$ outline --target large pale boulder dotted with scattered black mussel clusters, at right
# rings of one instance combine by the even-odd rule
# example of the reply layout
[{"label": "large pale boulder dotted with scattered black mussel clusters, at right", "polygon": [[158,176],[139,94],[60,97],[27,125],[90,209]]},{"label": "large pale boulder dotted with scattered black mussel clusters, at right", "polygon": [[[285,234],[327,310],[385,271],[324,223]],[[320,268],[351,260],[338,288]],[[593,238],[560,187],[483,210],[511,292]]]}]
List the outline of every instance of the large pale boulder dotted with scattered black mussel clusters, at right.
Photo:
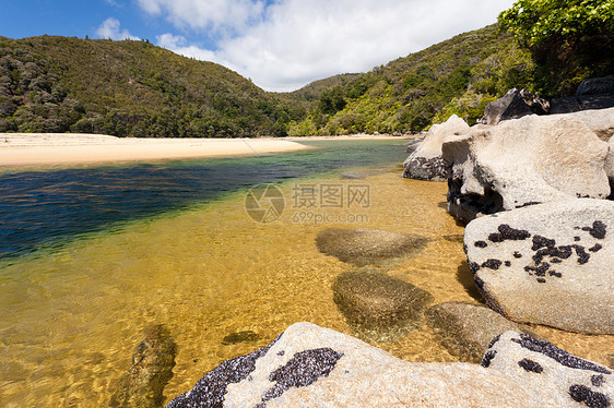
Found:
[{"label": "large pale boulder dotted with scattered black mussel clusters, at right", "polygon": [[482,217],[465,228],[484,300],[516,322],[614,334],[614,203],[568,200]]}]

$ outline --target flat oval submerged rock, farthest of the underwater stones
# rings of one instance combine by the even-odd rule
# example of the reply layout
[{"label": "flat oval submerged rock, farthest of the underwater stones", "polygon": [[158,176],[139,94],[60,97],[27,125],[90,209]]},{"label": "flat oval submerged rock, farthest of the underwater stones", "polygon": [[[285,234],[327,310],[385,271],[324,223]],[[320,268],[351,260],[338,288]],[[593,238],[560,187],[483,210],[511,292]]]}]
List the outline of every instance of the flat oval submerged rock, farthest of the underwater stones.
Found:
[{"label": "flat oval submerged rock, farthest of the underwater stones", "polygon": [[428,239],[411,233],[379,229],[329,228],[320,231],[320,252],[357,266],[383,265],[422,251]]}]

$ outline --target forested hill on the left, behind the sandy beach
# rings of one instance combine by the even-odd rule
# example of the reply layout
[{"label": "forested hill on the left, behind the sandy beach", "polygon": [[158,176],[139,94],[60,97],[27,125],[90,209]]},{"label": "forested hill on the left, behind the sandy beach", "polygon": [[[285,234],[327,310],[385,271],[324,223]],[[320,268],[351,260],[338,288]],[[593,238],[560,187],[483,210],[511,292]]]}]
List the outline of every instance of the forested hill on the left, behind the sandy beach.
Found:
[{"label": "forested hill on the left, behind the sandy beach", "polygon": [[0,37],[0,132],[285,135],[303,116],[236,72],[146,41]]}]

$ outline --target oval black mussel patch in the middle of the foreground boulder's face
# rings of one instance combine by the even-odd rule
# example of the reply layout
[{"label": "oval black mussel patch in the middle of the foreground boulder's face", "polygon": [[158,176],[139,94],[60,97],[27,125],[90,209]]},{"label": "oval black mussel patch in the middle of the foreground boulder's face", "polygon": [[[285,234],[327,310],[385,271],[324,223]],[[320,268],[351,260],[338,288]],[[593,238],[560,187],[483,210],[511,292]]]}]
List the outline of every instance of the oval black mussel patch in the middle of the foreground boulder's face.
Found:
[{"label": "oval black mussel patch in the middle of the foreground boulder's face", "polygon": [[285,365],[271,373],[269,381],[275,382],[275,385],[264,393],[262,403],[256,407],[264,408],[267,401],[280,397],[290,388],[306,387],[328,376],[342,357],[343,352],[328,347],[297,352]]}]

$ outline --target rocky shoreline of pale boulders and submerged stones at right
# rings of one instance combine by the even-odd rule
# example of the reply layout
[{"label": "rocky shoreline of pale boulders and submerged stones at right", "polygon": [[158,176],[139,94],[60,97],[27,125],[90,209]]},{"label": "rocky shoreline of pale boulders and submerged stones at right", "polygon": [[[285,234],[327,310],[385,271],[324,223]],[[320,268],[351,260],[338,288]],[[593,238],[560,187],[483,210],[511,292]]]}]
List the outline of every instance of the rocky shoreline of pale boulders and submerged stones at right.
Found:
[{"label": "rocky shoreline of pale boulders and submerged stones at right", "polygon": [[433,127],[404,164],[405,177],[448,182],[448,211],[468,224],[464,250],[487,307],[433,305],[430,293],[386,274],[424,248],[421,237],[329,229],[316,242],[356,267],[333,285],[355,336],[390,340],[426,323],[465,362],[408,362],[296,323],[167,407],[611,407],[610,368],[524,323],[614,334],[614,108],[536,116],[543,103],[519,94],[532,105],[513,118],[505,110],[515,95],[487,109],[495,124],[452,117]]}]

